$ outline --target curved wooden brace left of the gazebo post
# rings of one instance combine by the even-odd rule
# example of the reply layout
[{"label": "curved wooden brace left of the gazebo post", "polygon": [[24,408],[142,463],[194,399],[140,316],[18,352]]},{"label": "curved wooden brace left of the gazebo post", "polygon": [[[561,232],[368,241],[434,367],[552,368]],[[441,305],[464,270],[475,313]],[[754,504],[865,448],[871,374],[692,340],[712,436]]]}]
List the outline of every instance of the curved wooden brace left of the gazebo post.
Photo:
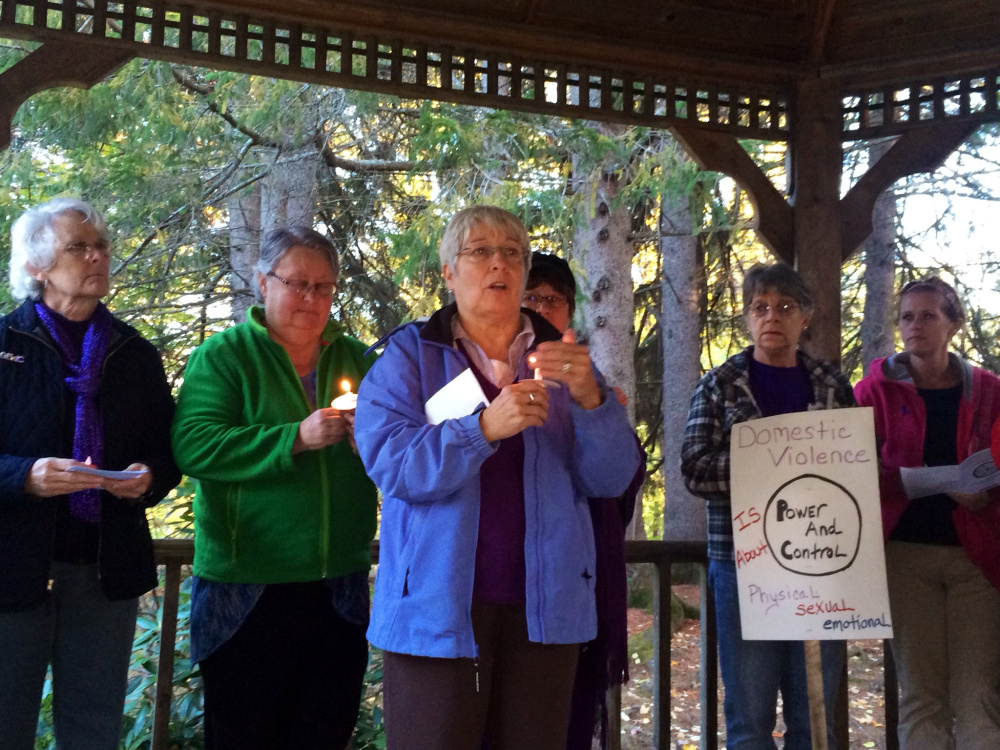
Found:
[{"label": "curved wooden brace left of the gazebo post", "polygon": [[699,168],[722,172],[740,184],[754,207],[757,236],[776,256],[794,263],[792,207],[740,142],[726,133],[691,125],[675,125],[670,130]]}]

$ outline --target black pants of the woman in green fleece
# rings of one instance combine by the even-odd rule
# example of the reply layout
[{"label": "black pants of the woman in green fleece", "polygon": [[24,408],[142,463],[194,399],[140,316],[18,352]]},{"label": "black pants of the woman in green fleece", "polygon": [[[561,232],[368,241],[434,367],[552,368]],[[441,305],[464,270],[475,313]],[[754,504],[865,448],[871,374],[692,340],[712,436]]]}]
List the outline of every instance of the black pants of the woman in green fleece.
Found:
[{"label": "black pants of the woman in green fleece", "polygon": [[209,750],[342,750],[368,662],[364,628],[333,609],[322,581],[273,584],[201,662]]}]

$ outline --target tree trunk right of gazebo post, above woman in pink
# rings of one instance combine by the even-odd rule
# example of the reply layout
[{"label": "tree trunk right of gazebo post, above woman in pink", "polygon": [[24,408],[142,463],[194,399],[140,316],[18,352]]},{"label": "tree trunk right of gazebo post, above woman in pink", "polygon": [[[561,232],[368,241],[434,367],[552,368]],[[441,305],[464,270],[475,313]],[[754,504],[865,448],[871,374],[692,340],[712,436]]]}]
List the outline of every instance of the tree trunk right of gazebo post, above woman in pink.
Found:
[{"label": "tree trunk right of gazebo post, above woman in pink", "polygon": [[[869,168],[892,147],[891,140],[868,148]],[[861,367],[878,357],[888,357],[895,349],[893,340],[893,289],[895,287],[896,194],[892,188],[875,201],[872,233],[865,240],[865,312],[861,319]]]}]

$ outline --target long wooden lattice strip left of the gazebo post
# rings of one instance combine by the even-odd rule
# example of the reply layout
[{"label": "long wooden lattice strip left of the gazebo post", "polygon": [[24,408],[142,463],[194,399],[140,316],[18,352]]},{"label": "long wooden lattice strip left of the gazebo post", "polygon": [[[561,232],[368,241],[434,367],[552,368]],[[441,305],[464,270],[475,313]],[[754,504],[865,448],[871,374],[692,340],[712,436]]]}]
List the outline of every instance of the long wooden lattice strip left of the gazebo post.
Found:
[{"label": "long wooden lattice strip left of the gazebo post", "polygon": [[696,123],[740,138],[784,140],[777,87],[667,78],[624,67],[519,59],[350,28],[288,23],[177,0],[2,0],[0,35],[71,39],[163,59],[290,80],[560,117],[669,127]]}]

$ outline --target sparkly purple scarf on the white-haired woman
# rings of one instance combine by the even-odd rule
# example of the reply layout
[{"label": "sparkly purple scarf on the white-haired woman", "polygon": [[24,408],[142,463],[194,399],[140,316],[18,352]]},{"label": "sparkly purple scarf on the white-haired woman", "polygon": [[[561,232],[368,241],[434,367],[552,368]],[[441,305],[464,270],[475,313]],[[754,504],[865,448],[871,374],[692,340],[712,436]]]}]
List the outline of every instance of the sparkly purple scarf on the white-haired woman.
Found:
[{"label": "sparkly purple scarf on the white-haired woman", "polygon": [[[101,466],[104,460],[104,439],[101,414],[97,408],[97,393],[101,383],[101,366],[108,350],[111,334],[111,313],[101,303],[90,316],[90,325],[83,337],[83,349],[76,351],[72,338],[62,327],[57,315],[36,302],[35,312],[45,324],[52,340],[59,347],[66,375],[66,387],[76,394],[76,423],[73,428],[73,458]],[[82,490],[69,496],[70,513],[87,523],[101,520],[101,491]]]}]

